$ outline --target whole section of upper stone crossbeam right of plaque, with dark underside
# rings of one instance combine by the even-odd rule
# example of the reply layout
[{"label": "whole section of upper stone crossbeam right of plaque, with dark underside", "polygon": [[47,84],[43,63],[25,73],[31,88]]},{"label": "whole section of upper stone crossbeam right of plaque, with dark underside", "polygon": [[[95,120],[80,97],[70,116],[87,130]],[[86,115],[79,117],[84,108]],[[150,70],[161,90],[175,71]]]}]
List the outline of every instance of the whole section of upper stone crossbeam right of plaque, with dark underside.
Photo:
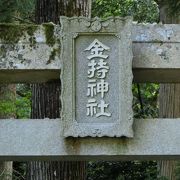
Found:
[{"label": "whole section of upper stone crossbeam right of plaque, with dark underside", "polygon": [[180,25],[134,24],[135,82],[180,82]]}]

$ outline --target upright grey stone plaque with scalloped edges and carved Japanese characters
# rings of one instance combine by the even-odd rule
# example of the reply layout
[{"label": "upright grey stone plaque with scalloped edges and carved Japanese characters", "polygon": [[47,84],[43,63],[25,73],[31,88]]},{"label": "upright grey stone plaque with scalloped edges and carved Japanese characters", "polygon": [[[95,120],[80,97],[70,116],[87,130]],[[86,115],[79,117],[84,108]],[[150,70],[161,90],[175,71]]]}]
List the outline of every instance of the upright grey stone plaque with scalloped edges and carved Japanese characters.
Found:
[{"label": "upright grey stone plaque with scalloped edges and carved Japanese characters", "polygon": [[133,137],[131,18],[61,17],[65,137]]}]

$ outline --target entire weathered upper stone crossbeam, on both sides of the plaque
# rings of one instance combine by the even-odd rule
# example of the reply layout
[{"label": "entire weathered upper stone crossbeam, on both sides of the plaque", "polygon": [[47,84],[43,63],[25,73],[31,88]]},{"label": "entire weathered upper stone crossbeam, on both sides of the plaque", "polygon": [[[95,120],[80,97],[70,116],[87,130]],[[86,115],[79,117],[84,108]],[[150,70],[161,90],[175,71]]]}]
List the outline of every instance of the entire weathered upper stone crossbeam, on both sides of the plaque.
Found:
[{"label": "entire weathered upper stone crossbeam, on both sides of the plaque", "polygon": [[[53,24],[1,24],[0,83],[59,79],[59,32]],[[180,82],[180,25],[134,23],[132,39],[134,82]]]}]

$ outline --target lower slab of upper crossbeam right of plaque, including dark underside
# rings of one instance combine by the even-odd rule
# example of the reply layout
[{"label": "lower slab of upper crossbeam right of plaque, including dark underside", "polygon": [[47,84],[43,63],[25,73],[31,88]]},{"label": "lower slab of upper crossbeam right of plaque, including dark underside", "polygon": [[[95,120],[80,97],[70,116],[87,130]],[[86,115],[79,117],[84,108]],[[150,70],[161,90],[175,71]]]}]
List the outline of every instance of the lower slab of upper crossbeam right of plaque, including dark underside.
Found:
[{"label": "lower slab of upper crossbeam right of plaque, including dark underside", "polygon": [[180,82],[180,43],[133,43],[134,82]]}]

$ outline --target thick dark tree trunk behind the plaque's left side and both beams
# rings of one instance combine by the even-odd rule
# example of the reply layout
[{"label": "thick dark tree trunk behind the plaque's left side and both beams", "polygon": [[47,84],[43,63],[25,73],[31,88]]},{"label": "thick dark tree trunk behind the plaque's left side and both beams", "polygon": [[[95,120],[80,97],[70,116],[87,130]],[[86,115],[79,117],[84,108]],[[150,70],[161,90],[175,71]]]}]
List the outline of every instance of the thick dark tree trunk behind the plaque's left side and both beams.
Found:
[{"label": "thick dark tree trunk behind the plaque's left side and both beams", "polygon": [[[58,23],[59,16],[88,16],[90,0],[37,0],[37,23]],[[60,80],[32,87],[32,118],[60,117]],[[27,180],[84,180],[86,162],[29,162]]]}]

